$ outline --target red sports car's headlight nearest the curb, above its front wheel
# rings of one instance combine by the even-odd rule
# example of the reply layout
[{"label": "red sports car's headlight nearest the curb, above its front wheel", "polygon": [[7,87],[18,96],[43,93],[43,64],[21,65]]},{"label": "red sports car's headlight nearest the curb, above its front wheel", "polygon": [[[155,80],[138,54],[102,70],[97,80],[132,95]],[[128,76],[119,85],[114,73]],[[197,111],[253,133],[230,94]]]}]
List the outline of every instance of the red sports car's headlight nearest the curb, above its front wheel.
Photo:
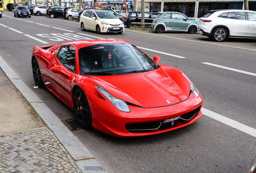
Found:
[{"label": "red sports car's headlight nearest the curb, above its front wheel", "polygon": [[99,92],[101,92],[101,94],[103,94],[107,98],[107,100],[109,100],[110,103],[112,103],[117,109],[119,109],[120,111],[123,111],[123,112],[130,112],[130,109],[126,105],[125,101],[122,101],[122,100],[112,96],[101,86],[94,86],[94,87],[97,88],[97,90],[99,90]]}]

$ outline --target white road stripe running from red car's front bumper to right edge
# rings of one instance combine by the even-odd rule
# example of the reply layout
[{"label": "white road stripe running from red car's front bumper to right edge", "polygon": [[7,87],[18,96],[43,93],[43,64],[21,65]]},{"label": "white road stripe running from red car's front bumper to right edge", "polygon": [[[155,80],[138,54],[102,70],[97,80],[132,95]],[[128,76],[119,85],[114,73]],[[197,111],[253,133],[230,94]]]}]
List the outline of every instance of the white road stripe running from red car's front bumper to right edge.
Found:
[{"label": "white road stripe running from red car's front bumper to right edge", "polygon": [[256,129],[253,129],[252,127],[249,127],[247,125],[244,125],[242,123],[239,123],[237,121],[234,121],[232,119],[229,119],[227,117],[224,117],[222,115],[219,115],[213,111],[209,111],[208,109],[201,108],[202,114],[206,115],[207,117],[210,117],[212,119],[215,119],[221,123],[224,123],[225,125],[228,125],[230,127],[233,127],[239,131],[242,131],[244,133],[247,133],[248,135],[252,135],[253,137],[256,137]]}]

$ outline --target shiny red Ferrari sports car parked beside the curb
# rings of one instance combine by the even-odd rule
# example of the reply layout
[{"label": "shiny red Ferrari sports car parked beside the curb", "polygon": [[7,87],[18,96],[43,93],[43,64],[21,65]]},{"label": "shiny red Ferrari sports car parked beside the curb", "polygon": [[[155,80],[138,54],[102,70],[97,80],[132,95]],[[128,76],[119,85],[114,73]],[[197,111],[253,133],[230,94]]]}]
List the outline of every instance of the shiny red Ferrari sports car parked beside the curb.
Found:
[{"label": "shiny red Ferrari sports car parked beside the curb", "polygon": [[190,125],[202,96],[177,68],[159,65],[117,39],[35,46],[35,84],[71,109],[81,127],[115,137],[155,135]]}]

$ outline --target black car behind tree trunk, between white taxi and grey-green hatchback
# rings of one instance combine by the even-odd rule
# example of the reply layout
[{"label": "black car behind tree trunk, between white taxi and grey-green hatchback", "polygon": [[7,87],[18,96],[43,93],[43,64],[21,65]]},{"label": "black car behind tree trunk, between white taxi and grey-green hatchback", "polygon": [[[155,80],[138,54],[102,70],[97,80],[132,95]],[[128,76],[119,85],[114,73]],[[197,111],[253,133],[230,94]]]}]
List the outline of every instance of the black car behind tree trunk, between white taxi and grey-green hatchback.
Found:
[{"label": "black car behind tree trunk, between white taxi and grey-green hatchback", "polygon": [[[150,12],[145,12],[145,23],[152,23],[155,17]],[[132,22],[140,22],[141,21],[141,12],[128,12],[126,18],[124,20],[124,24],[130,28],[132,26]]]}]

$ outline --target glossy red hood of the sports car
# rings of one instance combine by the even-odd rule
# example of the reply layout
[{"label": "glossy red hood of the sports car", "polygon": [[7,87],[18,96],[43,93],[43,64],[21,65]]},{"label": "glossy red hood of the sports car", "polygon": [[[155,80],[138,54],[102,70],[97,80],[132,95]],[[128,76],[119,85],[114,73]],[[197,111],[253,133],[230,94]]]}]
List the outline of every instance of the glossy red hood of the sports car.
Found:
[{"label": "glossy red hood of the sports car", "polygon": [[175,68],[115,76],[90,76],[114,97],[140,107],[174,105],[188,99],[190,83]]}]

